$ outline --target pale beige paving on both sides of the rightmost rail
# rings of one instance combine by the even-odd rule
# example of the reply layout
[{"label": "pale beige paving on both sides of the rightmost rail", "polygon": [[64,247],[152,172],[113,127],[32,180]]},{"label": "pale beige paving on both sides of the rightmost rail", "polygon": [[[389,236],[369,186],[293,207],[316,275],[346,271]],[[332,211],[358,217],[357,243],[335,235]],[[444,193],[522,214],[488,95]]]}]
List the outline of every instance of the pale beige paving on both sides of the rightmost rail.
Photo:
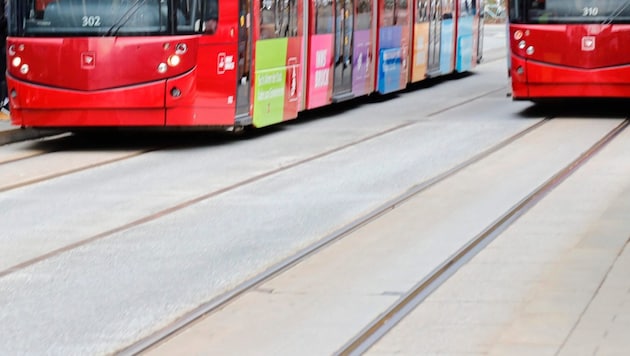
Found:
[{"label": "pale beige paving on both sides of the rightmost rail", "polygon": [[[551,177],[559,162],[568,164],[617,123],[553,121],[149,354],[334,354],[388,303]],[[624,278],[630,267],[624,251],[630,166],[619,162],[630,149],[628,138],[625,133],[588,162],[369,353],[624,354],[630,349],[624,339],[630,335],[630,281]]]}]

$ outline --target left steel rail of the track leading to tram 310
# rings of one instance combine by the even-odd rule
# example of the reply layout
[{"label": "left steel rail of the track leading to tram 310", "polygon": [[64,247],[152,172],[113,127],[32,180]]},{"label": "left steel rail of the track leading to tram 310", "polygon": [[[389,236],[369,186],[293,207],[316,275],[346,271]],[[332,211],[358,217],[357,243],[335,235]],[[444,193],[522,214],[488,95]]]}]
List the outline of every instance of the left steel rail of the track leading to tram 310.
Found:
[{"label": "left steel rail of the track leading to tram 310", "polygon": [[295,266],[296,264],[300,263],[301,261],[309,258],[310,256],[315,255],[316,253],[318,253],[319,251],[323,250],[324,248],[326,248],[327,246],[330,246],[331,244],[343,239],[346,236],[349,236],[352,232],[360,229],[361,227],[377,220],[378,218],[380,218],[381,216],[383,216],[384,214],[387,214],[389,211],[395,209],[396,207],[398,207],[399,205],[405,203],[407,200],[412,199],[413,197],[417,196],[418,194],[422,193],[423,191],[426,191],[427,189],[437,185],[440,182],[443,182],[444,180],[448,179],[449,177],[454,176],[455,174],[457,174],[458,172],[461,172],[462,170],[466,169],[467,167],[470,167],[471,165],[483,160],[484,158],[488,157],[489,155],[505,148],[506,146],[512,144],[513,142],[519,140],[520,138],[522,138],[523,136],[533,132],[534,130],[540,128],[541,126],[545,125],[547,122],[549,121],[549,119],[542,119],[538,122],[536,122],[535,124],[527,127],[526,129],[508,137],[507,139],[499,142],[498,144],[490,147],[489,149],[480,152],[478,154],[476,154],[475,156],[469,158],[468,160],[458,164],[457,166],[431,178],[428,179],[422,183],[419,183],[417,185],[412,186],[411,188],[409,188],[405,193],[393,198],[392,200],[378,206],[377,208],[375,208],[374,210],[370,211],[369,213],[357,218],[356,220],[348,223],[347,225],[343,226],[342,228],[333,231],[332,233],[326,235],[325,237],[323,237],[322,239],[320,239],[318,242],[302,249],[301,251],[298,251],[297,253],[293,254],[290,257],[285,258],[284,260],[278,262],[277,264],[275,264],[274,266],[272,266],[271,268],[267,269],[266,271],[264,271],[263,273],[257,275],[256,277],[247,280],[243,283],[241,283],[240,285],[238,285],[237,287],[233,288],[232,290],[200,305],[199,307],[195,308],[194,310],[190,311],[189,313],[183,315],[182,317],[180,317],[178,320],[176,320],[175,322],[173,322],[172,324],[170,324],[169,326],[159,330],[156,333],[153,333],[151,335],[149,335],[148,337],[145,337],[139,341],[137,341],[136,343],[121,349],[117,352],[117,354],[120,355],[135,355],[138,353],[142,353],[144,351],[150,350],[152,349],[154,346],[159,345],[160,343],[164,342],[165,340],[168,340],[169,338],[171,338],[174,335],[177,335],[181,330],[187,328],[188,326],[194,324],[196,321],[198,321],[199,319],[203,318],[204,316],[213,313],[216,310],[220,310],[222,308],[224,308],[226,305],[230,304],[232,301],[235,301],[236,299],[238,299],[239,296],[252,291],[254,289],[256,289],[257,287],[259,287],[260,285],[262,285],[263,283],[265,283],[266,281],[271,280],[272,278],[274,278],[275,276],[289,270],[290,268],[292,268],[293,266]]}]

